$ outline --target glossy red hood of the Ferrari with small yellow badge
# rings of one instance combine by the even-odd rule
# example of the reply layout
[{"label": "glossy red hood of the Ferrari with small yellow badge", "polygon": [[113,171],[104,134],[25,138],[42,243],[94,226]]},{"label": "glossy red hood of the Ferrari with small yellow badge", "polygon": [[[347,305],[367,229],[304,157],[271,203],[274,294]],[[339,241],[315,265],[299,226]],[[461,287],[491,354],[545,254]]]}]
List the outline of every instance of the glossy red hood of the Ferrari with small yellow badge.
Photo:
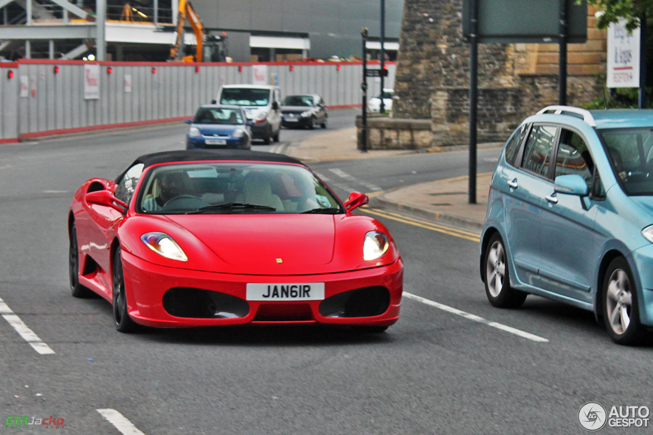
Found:
[{"label": "glossy red hood of the Ferrari with small yellow badge", "polygon": [[168,215],[226,263],[238,266],[315,266],[333,259],[333,215]]}]

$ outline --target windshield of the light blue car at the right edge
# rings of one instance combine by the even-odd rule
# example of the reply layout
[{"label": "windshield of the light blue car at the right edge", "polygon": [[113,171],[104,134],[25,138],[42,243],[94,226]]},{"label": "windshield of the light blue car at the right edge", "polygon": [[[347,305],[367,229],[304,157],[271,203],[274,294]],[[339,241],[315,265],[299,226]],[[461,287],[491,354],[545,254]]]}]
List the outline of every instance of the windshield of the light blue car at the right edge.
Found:
[{"label": "windshield of the light blue car at the right edge", "polygon": [[599,131],[626,195],[653,195],[653,129]]}]

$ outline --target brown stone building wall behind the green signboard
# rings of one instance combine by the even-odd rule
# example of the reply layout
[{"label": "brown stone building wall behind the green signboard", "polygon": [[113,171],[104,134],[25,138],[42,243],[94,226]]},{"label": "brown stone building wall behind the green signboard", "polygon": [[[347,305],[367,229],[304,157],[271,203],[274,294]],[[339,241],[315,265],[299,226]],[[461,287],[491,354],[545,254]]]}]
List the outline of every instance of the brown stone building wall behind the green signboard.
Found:
[{"label": "brown stone building wall behind the green signboard", "polygon": [[[470,54],[461,20],[460,0],[404,3],[391,116],[430,120],[430,146],[469,140]],[[588,26],[593,25],[592,16]],[[589,30],[586,44],[569,44],[569,105],[600,97],[605,86],[597,75],[605,71],[605,35]],[[558,103],[558,75],[551,71],[557,48],[557,44],[479,45],[479,142],[501,142],[524,118]]]}]

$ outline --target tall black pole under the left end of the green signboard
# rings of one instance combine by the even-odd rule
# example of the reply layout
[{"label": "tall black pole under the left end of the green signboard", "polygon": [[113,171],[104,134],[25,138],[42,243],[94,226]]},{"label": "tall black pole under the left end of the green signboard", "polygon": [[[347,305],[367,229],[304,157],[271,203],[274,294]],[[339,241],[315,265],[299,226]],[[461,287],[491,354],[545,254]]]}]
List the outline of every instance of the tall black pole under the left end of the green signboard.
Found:
[{"label": "tall black pole under the left end of the green signboard", "polygon": [[479,86],[479,4],[471,0],[470,31],[470,204],[476,204],[476,112]]}]

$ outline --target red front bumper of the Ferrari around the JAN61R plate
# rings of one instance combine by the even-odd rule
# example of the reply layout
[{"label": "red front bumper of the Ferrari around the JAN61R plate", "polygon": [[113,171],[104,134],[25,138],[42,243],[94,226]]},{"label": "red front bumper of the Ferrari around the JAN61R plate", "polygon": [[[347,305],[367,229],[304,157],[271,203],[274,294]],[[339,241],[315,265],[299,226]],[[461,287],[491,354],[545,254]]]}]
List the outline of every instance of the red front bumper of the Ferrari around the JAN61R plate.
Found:
[{"label": "red front bumper of the Ferrari around the JAN61R plate", "polygon": [[[401,260],[392,265],[364,270],[302,276],[238,275],[170,268],[154,265],[126,251],[122,252],[122,260],[129,315],[136,323],[150,327],[200,327],[245,323],[389,326],[399,319],[404,282]],[[324,300],[246,300],[247,283],[310,282],[324,283]],[[361,297],[372,294],[370,292],[388,295],[387,300],[381,302],[385,305],[380,314],[354,317],[357,315],[355,313],[360,313],[358,306],[351,310],[353,315],[342,317],[342,314],[336,314],[338,310],[333,309],[334,304],[342,302],[347,295],[355,295],[349,298],[350,301],[357,299],[360,302]],[[185,300],[181,310],[171,310],[171,299],[174,302],[184,293],[187,293],[191,300]],[[379,305],[378,300],[370,300],[370,303]],[[195,309],[189,311],[188,305],[198,304],[210,305],[209,311],[215,312],[214,317],[181,317]],[[199,310],[206,312],[206,306],[200,307]],[[170,311],[178,315],[172,315]]]}]

